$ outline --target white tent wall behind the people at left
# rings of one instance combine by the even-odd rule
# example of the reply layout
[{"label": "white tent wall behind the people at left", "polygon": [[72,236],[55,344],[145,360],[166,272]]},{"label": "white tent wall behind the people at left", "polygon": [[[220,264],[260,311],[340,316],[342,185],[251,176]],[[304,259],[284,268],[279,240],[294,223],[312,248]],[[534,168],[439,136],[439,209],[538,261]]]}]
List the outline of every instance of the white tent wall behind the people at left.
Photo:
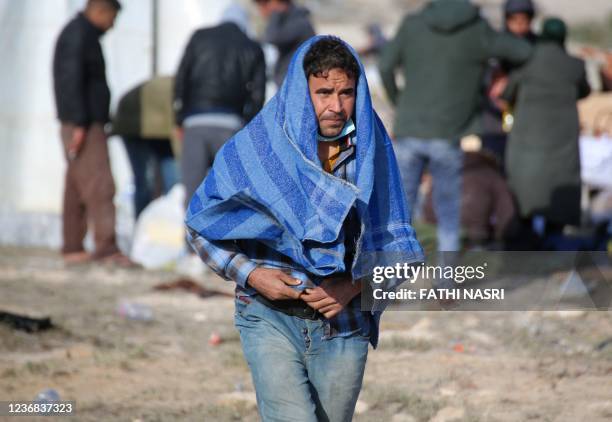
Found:
[{"label": "white tent wall behind the people at left", "polygon": [[[113,104],[152,75],[154,2],[123,0],[103,38]],[[158,73],[170,75],[193,30],[217,22],[230,0],[157,2]],[[60,245],[65,163],[51,63],[57,35],[84,3],[0,0],[0,244]],[[110,147],[121,202],[131,176],[121,143],[111,140]]]}]

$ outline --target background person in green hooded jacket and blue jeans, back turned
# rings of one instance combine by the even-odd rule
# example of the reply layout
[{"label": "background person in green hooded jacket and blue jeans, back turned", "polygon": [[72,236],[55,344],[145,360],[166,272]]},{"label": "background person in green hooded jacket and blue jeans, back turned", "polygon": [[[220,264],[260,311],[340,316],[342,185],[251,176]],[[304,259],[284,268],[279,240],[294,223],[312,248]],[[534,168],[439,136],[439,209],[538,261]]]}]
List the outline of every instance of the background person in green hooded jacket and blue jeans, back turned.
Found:
[{"label": "background person in green hooded jacket and blue jeans, back turned", "polygon": [[[408,15],[380,61],[383,84],[397,106],[395,152],[408,203],[416,202],[425,166],[433,176],[440,251],[459,249],[462,152],[481,83],[492,57],[522,63],[531,47],[494,31],[467,0],[436,0]],[[401,67],[404,89],[395,80]]]}]

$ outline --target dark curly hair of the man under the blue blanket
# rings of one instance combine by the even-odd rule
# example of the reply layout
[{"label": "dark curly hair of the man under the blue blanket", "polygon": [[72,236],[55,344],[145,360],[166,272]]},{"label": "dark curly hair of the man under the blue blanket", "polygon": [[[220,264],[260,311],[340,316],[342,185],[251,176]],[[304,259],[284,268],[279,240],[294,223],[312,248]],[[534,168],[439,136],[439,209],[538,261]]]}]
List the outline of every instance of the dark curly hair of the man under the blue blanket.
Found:
[{"label": "dark curly hair of the man under the blue blanket", "polygon": [[306,78],[321,76],[332,69],[342,69],[351,78],[359,78],[359,63],[337,37],[325,37],[310,47],[304,57]]}]

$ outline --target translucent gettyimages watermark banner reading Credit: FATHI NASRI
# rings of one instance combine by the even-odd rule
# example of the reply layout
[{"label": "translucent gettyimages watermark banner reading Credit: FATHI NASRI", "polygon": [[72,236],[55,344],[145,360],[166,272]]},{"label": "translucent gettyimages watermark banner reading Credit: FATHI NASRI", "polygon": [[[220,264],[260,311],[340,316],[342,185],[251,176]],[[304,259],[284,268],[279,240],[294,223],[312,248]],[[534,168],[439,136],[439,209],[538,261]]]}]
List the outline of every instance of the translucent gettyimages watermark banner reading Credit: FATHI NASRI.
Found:
[{"label": "translucent gettyimages watermark banner reading Credit: FATHI NASRI", "polygon": [[[426,262],[376,253],[361,283],[362,310],[612,310],[612,254],[605,251],[444,252]],[[439,305],[439,306],[438,306]]]}]

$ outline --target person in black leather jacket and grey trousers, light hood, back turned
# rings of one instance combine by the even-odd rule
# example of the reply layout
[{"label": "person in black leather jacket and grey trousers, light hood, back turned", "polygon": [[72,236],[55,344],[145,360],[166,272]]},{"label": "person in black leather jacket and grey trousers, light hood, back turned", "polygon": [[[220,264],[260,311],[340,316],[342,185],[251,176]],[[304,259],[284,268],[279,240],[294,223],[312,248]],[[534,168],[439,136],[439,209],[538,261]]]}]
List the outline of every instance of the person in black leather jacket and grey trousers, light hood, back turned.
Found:
[{"label": "person in black leather jacket and grey trousers, light hood, back turned", "polygon": [[181,59],[174,104],[183,140],[185,206],[204,180],[217,151],[263,106],[264,54],[247,36],[248,26],[247,12],[233,4],[225,10],[220,25],[193,34]]}]

